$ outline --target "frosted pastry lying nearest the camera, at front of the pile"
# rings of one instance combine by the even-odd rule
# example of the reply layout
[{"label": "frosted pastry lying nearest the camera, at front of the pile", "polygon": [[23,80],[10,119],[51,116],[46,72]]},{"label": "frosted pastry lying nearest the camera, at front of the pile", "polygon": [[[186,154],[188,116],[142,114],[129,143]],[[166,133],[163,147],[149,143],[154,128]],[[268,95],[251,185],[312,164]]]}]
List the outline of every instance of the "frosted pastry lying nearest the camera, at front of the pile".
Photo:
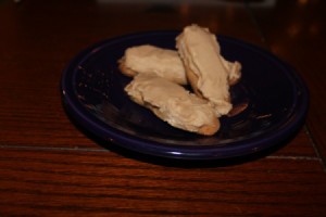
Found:
[{"label": "frosted pastry lying nearest the camera, at front of the pile", "polygon": [[206,100],[165,78],[139,74],[125,91],[133,101],[150,108],[173,127],[206,136],[220,128],[215,111]]}]

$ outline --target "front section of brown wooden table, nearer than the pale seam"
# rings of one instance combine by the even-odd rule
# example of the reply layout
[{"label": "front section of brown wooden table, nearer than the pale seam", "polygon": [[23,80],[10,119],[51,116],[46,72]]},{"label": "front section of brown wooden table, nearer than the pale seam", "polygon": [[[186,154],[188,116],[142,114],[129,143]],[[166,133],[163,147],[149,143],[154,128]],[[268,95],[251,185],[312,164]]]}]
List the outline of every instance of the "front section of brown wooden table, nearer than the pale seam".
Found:
[{"label": "front section of brown wooden table, nearer than the pale seam", "polygon": [[4,214],[317,215],[326,205],[326,177],[314,159],[184,169],[106,151],[3,149],[0,164]]}]

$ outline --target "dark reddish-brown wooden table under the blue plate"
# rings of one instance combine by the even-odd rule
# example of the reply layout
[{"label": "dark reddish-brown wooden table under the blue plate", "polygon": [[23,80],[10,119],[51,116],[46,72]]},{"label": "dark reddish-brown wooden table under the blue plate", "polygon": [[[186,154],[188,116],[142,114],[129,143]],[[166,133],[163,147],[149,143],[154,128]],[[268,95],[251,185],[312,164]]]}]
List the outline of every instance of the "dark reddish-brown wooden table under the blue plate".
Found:
[{"label": "dark reddish-brown wooden table under the blue plate", "polygon": [[[0,1],[0,216],[323,216],[326,2]],[[300,131],[252,161],[205,166],[103,148],[66,116],[63,68],[108,38],[197,23],[269,50],[310,89]]]}]

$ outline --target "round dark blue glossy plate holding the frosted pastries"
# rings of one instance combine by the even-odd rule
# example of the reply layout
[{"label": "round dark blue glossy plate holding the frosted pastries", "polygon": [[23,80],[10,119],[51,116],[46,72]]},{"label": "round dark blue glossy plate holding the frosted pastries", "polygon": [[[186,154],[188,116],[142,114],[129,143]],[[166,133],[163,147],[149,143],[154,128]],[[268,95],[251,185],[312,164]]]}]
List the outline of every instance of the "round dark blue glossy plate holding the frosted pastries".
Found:
[{"label": "round dark blue glossy plate holding the frosted pastries", "polygon": [[231,87],[231,101],[242,111],[221,118],[211,137],[171,127],[124,92],[130,78],[117,60],[133,46],[175,49],[177,31],[123,36],[80,52],[63,72],[61,91],[67,113],[88,131],[115,145],[154,156],[225,159],[277,145],[302,125],[309,94],[296,72],[273,54],[217,36],[222,54],[242,64],[242,78]]}]

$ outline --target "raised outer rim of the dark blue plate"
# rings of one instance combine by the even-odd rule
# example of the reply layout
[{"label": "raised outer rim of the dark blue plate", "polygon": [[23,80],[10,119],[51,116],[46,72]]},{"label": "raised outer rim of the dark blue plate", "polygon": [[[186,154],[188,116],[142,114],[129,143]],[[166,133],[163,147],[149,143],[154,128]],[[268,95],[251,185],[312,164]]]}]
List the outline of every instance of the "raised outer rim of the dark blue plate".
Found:
[{"label": "raised outer rim of the dark blue plate", "polygon": [[[82,125],[92,135],[103,139],[106,142],[112,142],[115,145],[125,148],[127,150],[131,150],[134,152],[142,153],[142,154],[149,154],[149,155],[167,157],[167,158],[179,158],[179,159],[225,159],[225,158],[253,154],[275,145],[275,143],[285,139],[284,138],[285,135],[289,136],[296,132],[298,128],[301,126],[301,124],[303,124],[309,107],[309,90],[303,79],[296,72],[296,69],[291,67],[289,64],[287,64],[286,62],[284,62],[283,60],[280,60],[275,54],[268,52],[267,50],[264,50],[252,43],[244,42],[242,40],[231,38],[229,36],[224,36],[224,35],[216,35],[217,39],[220,38],[223,40],[231,41],[233,43],[237,43],[241,47],[244,46],[246,48],[249,48],[251,51],[263,54],[264,56],[267,56],[268,59],[275,61],[279,65],[285,67],[287,72],[287,76],[290,78],[292,85],[296,86],[297,90],[300,90],[300,93],[298,93],[297,97],[297,104],[296,104],[296,107],[300,107],[300,110],[298,110],[297,112],[292,112],[289,118],[291,119],[291,122],[288,120],[286,125],[281,125],[285,129],[277,131],[277,133],[275,135],[272,136],[269,135],[267,138],[261,138],[261,136],[259,136],[259,139],[256,138],[248,139],[249,144],[247,143],[244,146],[242,145],[243,148],[241,149],[242,150],[241,152],[237,151],[235,153],[235,149],[238,150],[239,146],[237,146],[237,144],[243,142],[236,142],[235,145],[226,144],[223,146],[222,145],[185,146],[185,145],[164,144],[156,141],[147,141],[143,140],[142,138],[137,138],[133,135],[128,135],[124,131],[120,131],[118,129],[115,129],[109,125],[104,125],[100,119],[93,117],[93,115],[91,115],[90,113],[87,113],[87,110],[85,107],[83,107],[82,105],[78,106],[78,100],[74,99],[74,97],[71,95],[72,93],[68,92],[68,89],[73,87],[68,87],[70,84],[67,82],[68,81],[67,76],[68,74],[72,75],[75,74],[72,73],[72,69],[75,68],[76,63],[82,62],[83,56],[84,59],[87,56],[86,55],[87,53],[97,52],[98,50],[101,50],[101,47],[108,47],[112,43],[116,43],[117,41],[128,40],[138,37],[149,37],[152,35],[160,35],[160,36],[177,35],[178,33],[180,31],[159,30],[159,31],[140,31],[136,34],[128,34],[128,35],[117,36],[117,37],[102,40],[78,52],[68,62],[61,77],[60,90],[61,90],[62,101],[68,115],[73,116],[74,120],[76,120],[79,125]],[[74,102],[77,102],[77,104]],[[87,127],[87,125],[91,125],[91,127],[89,126]],[[271,140],[273,142],[271,142]],[[263,142],[266,142],[269,145],[264,145],[263,149],[260,149],[261,148],[260,144]],[[183,151],[180,151],[180,149]],[[201,151],[201,153],[198,153],[199,150]],[[220,152],[221,150],[223,150],[223,154]]]}]

